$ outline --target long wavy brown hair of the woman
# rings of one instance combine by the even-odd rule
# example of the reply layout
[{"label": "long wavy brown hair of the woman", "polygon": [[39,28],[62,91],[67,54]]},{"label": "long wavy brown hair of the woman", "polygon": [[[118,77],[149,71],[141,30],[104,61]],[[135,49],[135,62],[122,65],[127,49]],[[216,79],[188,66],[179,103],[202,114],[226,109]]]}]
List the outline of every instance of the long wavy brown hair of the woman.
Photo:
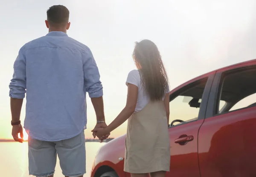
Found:
[{"label": "long wavy brown hair of the woman", "polygon": [[150,100],[162,100],[169,86],[157,46],[151,40],[136,42],[133,58],[137,67],[139,66],[142,83]]}]

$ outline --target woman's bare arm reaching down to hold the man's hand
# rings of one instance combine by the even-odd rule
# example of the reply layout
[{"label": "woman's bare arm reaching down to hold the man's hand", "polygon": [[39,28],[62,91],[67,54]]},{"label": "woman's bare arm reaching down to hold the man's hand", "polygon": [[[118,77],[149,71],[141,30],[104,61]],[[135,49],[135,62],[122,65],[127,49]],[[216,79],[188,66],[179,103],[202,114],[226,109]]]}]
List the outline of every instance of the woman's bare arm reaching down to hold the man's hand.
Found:
[{"label": "woman's bare arm reaching down to hold the man's hand", "polygon": [[137,104],[138,97],[138,87],[128,83],[128,94],[125,108],[120,112],[120,114],[104,129],[93,129],[92,131],[97,131],[97,137],[102,137],[109,134],[111,131],[122,125],[122,123],[127,120],[131,114],[134,113]]}]

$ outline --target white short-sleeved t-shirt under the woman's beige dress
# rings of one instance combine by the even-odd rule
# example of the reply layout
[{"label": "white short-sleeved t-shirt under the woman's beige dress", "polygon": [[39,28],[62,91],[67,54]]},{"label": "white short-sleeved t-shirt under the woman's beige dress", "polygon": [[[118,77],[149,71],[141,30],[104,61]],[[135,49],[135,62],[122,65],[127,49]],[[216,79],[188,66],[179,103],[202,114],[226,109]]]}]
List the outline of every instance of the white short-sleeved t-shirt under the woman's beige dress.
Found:
[{"label": "white short-sleeved t-shirt under the woman's beige dress", "polygon": [[[137,104],[135,108],[135,112],[138,112],[148,104],[150,98],[147,94],[145,94],[143,84],[140,80],[140,73],[137,69],[134,69],[129,72],[126,80],[126,85],[128,85],[128,83],[138,87],[138,98],[137,98]],[[166,93],[169,93],[169,87],[166,90]]]}]

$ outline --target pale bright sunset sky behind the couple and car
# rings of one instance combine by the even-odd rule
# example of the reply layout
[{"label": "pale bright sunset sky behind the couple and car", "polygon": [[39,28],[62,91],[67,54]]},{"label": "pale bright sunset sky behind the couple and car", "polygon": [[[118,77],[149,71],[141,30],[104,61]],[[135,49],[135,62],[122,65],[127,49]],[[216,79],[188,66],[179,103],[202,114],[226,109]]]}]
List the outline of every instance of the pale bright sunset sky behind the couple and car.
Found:
[{"label": "pale bright sunset sky behind the couple and car", "polygon": [[[46,11],[58,4],[70,10],[67,34],[93,52],[108,124],[125,106],[125,80],[136,69],[131,57],[136,41],[156,43],[171,89],[198,75],[256,58],[255,0],[0,1],[0,139],[12,138],[9,83],[17,53],[25,43],[47,34]],[[96,117],[88,97],[87,105],[85,136],[92,138]],[[125,134],[126,126],[111,137]]]}]

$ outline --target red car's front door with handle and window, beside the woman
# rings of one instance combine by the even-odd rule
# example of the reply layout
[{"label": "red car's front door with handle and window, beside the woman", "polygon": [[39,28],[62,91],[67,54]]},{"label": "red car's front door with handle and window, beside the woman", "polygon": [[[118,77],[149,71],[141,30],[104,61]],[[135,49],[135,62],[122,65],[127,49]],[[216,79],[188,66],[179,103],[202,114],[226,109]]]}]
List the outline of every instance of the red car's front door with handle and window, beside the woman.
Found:
[{"label": "red car's front door with handle and window, beside the woman", "polygon": [[204,121],[214,74],[189,81],[170,94],[171,164],[167,177],[200,177],[198,130]]}]

